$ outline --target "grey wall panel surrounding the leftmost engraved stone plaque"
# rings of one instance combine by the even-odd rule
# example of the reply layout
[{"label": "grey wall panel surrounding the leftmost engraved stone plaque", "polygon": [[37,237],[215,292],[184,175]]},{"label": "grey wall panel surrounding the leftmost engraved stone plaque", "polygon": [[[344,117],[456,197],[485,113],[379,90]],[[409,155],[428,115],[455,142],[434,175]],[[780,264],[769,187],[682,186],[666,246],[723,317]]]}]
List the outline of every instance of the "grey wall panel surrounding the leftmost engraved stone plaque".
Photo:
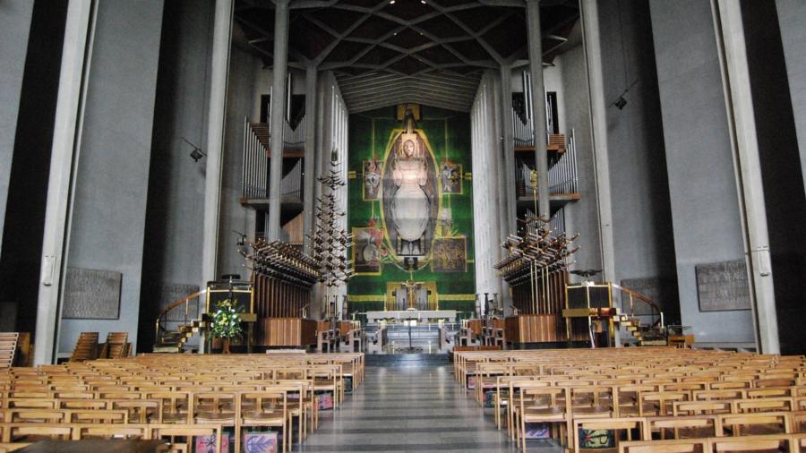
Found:
[{"label": "grey wall panel surrounding the leftmost engraved stone plaque", "polygon": [[129,332],[136,344],[162,6],[98,5],[67,265],[123,273],[120,319],[63,320],[60,352],[81,331]]}]

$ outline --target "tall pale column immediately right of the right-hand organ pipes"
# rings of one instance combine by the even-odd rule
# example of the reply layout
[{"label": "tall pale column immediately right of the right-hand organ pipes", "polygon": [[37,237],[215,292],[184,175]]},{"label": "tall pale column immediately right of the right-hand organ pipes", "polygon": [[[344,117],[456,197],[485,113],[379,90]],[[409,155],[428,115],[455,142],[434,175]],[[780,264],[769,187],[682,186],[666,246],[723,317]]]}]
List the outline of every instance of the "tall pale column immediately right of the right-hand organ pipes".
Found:
[{"label": "tall pale column immediately right of the right-hand organ pipes", "polygon": [[[596,0],[582,0],[582,36],[587,62],[587,87],[590,102],[590,124],[596,173],[596,206],[599,210],[599,237],[602,244],[602,268],[605,281],[613,281],[613,209],[610,196],[610,164],[607,154],[607,115],[602,74],[602,47]],[[585,152],[586,150],[582,150]]]}]

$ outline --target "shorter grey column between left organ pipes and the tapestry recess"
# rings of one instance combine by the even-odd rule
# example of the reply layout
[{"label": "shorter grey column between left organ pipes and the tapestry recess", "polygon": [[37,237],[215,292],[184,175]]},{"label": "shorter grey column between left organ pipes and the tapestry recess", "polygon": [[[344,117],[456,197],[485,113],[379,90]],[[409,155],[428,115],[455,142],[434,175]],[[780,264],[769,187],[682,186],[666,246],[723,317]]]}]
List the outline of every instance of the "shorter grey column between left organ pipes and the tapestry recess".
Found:
[{"label": "shorter grey column between left organ pipes and the tapestry recess", "polygon": [[313,244],[308,235],[313,235],[313,218],[316,213],[313,212],[314,189],[313,184],[316,180],[316,135],[317,126],[316,122],[316,79],[318,70],[316,66],[308,66],[305,72],[305,154],[304,154],[304,252],[311,253]]}]

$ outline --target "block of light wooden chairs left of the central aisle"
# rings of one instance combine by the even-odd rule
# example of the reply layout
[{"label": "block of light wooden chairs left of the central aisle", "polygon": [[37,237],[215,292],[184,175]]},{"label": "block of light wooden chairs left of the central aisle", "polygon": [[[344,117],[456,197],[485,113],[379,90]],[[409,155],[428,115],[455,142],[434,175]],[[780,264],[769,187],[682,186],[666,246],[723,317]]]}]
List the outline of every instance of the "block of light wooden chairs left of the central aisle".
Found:
[{"label": "block of light wooden chairs left of the central aisle", "polygon": [[[363,355],[141,355],[0,374],[4,423],[156,424],[236,432],[240,451],[244,428],[276,428],[283,450],[302,441],[318,424],[322,391],[333,406],[344,399],[345,380],[364,376]],[[348,368],[349,374],[344,372]],[[9,431],[8,440],[20,439]],[[4,433],[5,435],[5,433]]]}]

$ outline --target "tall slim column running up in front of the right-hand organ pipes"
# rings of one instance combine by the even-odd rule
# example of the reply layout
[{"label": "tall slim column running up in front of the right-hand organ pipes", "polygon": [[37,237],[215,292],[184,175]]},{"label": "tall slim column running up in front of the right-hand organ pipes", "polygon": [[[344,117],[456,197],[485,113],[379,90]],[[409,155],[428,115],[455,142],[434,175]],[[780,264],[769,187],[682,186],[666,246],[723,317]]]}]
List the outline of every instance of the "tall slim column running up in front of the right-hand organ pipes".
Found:
[{"label": "tall slim column running up in front of the right-hand organ pipes", "polygon": [[[537,170],[537,215],[552,217],[548,192],[548,156],[545,140],[545,88],[543,84],[543,35],[540,31],[540,1],[527,0],[529,73],[532,82],[532,124],[535,132],[535,168]],[[511,81],[508,80],[509,83]],[[511,99],[510,99],[511,102]],[[511,110],[511,109],[510,109]],[[504,112],[507,115],[507,112]]]}]

